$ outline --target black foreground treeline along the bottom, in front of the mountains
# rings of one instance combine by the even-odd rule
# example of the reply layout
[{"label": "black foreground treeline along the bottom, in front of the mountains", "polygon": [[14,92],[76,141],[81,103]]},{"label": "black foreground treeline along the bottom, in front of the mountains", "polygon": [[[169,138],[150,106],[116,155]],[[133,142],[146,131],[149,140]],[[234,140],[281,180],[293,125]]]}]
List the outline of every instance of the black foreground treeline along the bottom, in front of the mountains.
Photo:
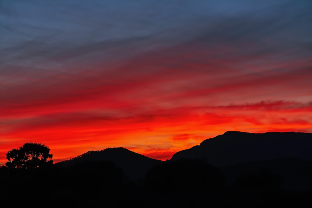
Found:
[{"label": "black foreground treeline along the bottom, in front of the mountains", "polygon": [[113,162],[68,167],[0,168],[0,199],[32,207],[311,207],[312,190],[287,190],[269,169],[241,172],[200,159],[167,161],[131,181]]}]

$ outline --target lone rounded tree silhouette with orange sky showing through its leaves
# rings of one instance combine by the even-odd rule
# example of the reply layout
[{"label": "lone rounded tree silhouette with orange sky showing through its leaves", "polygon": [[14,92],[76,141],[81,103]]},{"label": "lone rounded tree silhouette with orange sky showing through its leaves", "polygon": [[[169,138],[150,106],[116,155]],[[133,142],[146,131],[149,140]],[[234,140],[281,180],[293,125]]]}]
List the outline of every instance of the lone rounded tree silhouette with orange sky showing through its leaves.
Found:
[{"label": "lone rounded tree silhouette with orange sky showing through its leaves", "polygon": [[50,149],[42,143],[27,142],[18,149],[7,152],[8,169],[34,169],[47,167],[53,163]]}]

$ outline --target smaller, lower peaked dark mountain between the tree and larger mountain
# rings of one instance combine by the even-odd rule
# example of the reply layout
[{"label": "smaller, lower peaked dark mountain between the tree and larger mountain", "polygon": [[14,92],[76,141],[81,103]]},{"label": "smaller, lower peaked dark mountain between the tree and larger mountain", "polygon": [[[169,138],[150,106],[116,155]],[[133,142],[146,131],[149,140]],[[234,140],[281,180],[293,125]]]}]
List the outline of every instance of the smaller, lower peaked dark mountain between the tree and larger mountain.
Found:
[{"label": "smaller, lower peaked dark mountain between the tree and larger mountain", "polygon": [[122,169],[130,180],[144,178],[149,168],[163,162],[120,147],[89,151],[70,160],[58,162],[55,165],[59,167],[70,167],[85,162],[101,161],[114,162],[116,167]]}]

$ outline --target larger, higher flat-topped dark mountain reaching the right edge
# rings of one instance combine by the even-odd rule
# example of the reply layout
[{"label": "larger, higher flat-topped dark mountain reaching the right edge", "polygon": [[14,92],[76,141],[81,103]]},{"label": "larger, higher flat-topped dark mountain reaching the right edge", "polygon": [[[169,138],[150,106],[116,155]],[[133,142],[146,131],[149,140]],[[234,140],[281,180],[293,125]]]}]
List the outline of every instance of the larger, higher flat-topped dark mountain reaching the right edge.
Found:
[{"label": "larger, higher flat-topped dark mountain reaching the right edge", "polygon": [[170,160],[204,158],[219,167],[281,158],[312,161],[311,150],[312,133],[229,131],[179,151]]}]

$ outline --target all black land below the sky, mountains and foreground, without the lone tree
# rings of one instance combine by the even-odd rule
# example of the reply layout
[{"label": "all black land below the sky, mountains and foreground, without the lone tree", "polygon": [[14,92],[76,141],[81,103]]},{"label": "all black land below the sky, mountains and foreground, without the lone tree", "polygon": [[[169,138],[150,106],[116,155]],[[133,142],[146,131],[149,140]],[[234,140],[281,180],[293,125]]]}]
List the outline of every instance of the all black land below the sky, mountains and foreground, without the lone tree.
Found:
[{"label": "all black land below the sky, mountains and foreground, without the lone tree", "polygon": [[89,151],[48,168],[0,168],[0,199],[45,207],[311,207],[311,144],[312,133],[226,132],[167,161],[125,148]]}]

